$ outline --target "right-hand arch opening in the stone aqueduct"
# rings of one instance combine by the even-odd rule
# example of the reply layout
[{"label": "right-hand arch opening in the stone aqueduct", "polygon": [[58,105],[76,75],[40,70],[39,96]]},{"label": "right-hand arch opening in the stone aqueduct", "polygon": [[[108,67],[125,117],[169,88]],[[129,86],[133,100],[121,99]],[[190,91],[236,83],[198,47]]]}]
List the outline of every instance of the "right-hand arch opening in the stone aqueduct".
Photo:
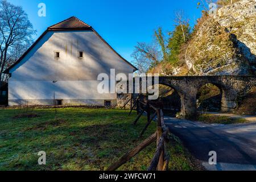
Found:
[{"label": "right-hand arch opening in the stone aqueduct", "polygon": [[212,83],[205,84],[197,91],[197,110],[221,111],[223,91],[220,86]]}]

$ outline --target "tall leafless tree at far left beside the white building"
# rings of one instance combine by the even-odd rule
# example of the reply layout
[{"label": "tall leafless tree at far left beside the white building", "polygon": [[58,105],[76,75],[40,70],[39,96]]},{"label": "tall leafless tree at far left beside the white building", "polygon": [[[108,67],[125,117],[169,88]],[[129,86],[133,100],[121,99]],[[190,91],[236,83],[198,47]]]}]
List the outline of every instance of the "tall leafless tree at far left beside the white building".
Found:
[{"label": "tall leafless tree at far left beside the white building", "polygon": [[0,0],[0,79],[3,71],[22,55],[32,43],[35,30],[22,7]]}]

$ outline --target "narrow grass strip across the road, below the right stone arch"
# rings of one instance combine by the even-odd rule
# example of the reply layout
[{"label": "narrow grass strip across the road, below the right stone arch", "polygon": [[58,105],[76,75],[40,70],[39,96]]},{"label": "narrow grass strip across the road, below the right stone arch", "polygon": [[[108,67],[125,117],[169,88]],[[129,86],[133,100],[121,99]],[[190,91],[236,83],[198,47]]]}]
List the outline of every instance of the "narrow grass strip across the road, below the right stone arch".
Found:
[{"label": "narrow grass strip across the road, below the right stone arch", "polygon": [[212,114],[201,114],[199,115],[197,120],[200,122],[209,123],[209,124],[220,123],[224,125],[248,122],[246,119],[243,119],[243,118],[230,118],[228,116],[212,115]]}]

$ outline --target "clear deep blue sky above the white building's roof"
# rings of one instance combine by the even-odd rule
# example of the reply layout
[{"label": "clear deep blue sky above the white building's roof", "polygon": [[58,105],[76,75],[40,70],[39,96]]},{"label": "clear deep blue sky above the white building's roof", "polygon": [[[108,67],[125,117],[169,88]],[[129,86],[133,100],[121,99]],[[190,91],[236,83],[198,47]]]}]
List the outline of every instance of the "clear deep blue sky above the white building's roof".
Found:
[{"label": "clear deep blue sky above the white building's roof", "polygon": [[[197,0],[7,0],[22,6],[37,30],[76,16],[92,26],[120,55],[130,55],[137,42],[151,42],[154,30],[174,28],[174,11],[183,9],[193,25],[200,17]],[[46,17],[38,16],[38,4],[46,4]]]}]

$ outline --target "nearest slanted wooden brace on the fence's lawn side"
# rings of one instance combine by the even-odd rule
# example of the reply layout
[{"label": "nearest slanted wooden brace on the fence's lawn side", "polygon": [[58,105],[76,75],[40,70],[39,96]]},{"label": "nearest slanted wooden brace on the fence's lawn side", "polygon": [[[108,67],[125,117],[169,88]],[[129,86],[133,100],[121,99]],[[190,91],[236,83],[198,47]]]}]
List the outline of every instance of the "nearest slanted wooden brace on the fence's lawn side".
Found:
[{"label": "nearest slanted wooden brace on the fence's lawn side", "polygon": [[107,171],[115,171],[120,166],[122,166],[127,161],[129,161],[131,158],[133,158],[135,155],[137,155],[139,152],[141,152],[144,148],[149,146],[152,142],[155,141],[155,139],[156,139],[156,133],[152,134],[150,137],[148,137],[146,140],[144,140],[141,144],[139,144],[133,150],[131,150],[127,154],[123,155],[117,162],[110,165],[110,167],[107,169]]}]

